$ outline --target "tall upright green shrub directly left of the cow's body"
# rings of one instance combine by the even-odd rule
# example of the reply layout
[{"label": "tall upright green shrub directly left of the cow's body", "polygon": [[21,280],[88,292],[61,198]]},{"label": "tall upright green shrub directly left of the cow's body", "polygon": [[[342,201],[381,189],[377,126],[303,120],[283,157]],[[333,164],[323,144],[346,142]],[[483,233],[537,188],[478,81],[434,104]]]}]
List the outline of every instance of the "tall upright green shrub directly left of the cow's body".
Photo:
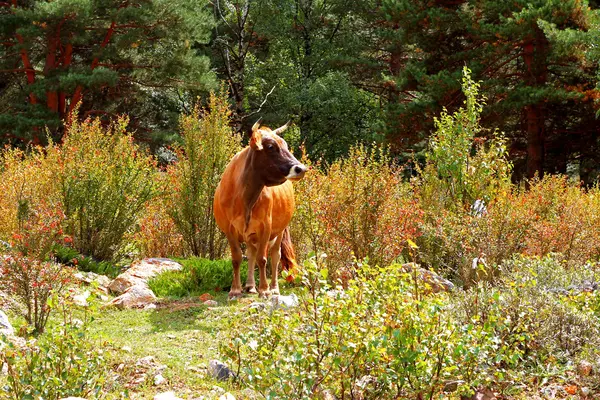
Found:
[{"label": "tall upright green shrub directly left of the cow's body", "polygon": [[231,111],[224,94],[210,94],[206,109],[195,107],[181,117],[183,147],[178,162],[167,168],[167,212],[188,251],[215,259],[223,256],[227,241],[213,217],[213,198],[221,174],[241,150],[240,137],[229,126]]}]

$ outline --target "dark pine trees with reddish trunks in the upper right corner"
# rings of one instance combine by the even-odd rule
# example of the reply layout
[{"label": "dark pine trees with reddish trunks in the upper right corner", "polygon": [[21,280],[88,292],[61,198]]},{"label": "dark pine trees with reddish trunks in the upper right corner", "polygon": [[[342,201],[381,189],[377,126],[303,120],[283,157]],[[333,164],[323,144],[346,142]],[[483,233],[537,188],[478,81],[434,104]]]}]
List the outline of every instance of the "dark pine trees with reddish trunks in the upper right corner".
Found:
[{"label": "dark pine trees with reddish trunks in the upper right corner", "polygon": [[565,172],[586,145],[597,149],[597,65],[586,55],[598,13],[587,1],[361,3],[354,20],[364,33],[349,70],[356,84],[385,98],[387,135],[398,151],[419,150],[433,117],[462,103],[463,66],[483,81],[482,124],[507,133],[523,175]]}]

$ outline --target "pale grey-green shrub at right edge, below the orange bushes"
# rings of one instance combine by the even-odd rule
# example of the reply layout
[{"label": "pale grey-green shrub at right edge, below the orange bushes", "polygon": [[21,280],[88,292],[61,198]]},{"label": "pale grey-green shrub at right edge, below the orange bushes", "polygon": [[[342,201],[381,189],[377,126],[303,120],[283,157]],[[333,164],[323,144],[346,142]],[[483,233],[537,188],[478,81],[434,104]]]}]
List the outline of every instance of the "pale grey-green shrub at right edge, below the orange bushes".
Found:
[{"label": "pale grey-green shrub at right edge, below the orange bushes", "polygon": [[453,296],[459,322],[486,324],[501,311],[505,326],[497,333],[503,340],[521,336],[519,348],[532,366],[549,358],[567,364],[598,349],[600,324],[592,307],[586,307],[595,294],[583,289],[597,271],[572,269],[560,255],[515,256],[500,268],[501,278],[493,287],[480,283]]}]

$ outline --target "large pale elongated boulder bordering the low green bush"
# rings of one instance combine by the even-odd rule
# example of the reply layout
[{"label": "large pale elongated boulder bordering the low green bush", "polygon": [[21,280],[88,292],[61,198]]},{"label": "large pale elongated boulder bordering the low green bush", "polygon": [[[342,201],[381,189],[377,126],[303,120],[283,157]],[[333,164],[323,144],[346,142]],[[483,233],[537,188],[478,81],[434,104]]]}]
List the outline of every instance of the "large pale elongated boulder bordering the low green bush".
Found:
[{"label": "large pale elongated boulder bordering the low green bush", "polygon": [[146,285],[150,278],[162,272],[180,271],[182,268],[181,264],[168,258],[144,258],[117,276],[108,289],[115,294],[123,294],[130,287]]}]

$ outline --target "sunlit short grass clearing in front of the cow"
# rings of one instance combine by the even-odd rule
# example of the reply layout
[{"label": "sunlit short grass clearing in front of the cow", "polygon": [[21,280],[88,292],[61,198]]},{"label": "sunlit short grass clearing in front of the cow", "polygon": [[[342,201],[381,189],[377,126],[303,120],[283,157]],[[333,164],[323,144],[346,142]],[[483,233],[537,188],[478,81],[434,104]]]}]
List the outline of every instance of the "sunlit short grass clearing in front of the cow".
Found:
[{"label": "sunlit short grass clearing in front of the cow", "polygon": [[[126,366],[130,381],[139,369],[136,362],[143,357],[153,356],[156,365],[167,367],[162,372],[167,383],[153,386],[154,375],[149,374],[144,383],[130,389],[132,398],[152,399],[157,393],[172,390],[191,399],[209,395],[215,385],[235,394],[227,382],[207,376],[206,367],[211,359],[219,359],[218,345],[228,331],[229,316],[244,306],[228,302],[226,292],[211,294],[219,306],[209,308],[198,299],[188,298],[163,301],[154,310],[107,308],[96,313],[90,333],[100,341],[112,343],[117,349],[113,362]],[[123,350],[124,347],[131,351]]]}]

